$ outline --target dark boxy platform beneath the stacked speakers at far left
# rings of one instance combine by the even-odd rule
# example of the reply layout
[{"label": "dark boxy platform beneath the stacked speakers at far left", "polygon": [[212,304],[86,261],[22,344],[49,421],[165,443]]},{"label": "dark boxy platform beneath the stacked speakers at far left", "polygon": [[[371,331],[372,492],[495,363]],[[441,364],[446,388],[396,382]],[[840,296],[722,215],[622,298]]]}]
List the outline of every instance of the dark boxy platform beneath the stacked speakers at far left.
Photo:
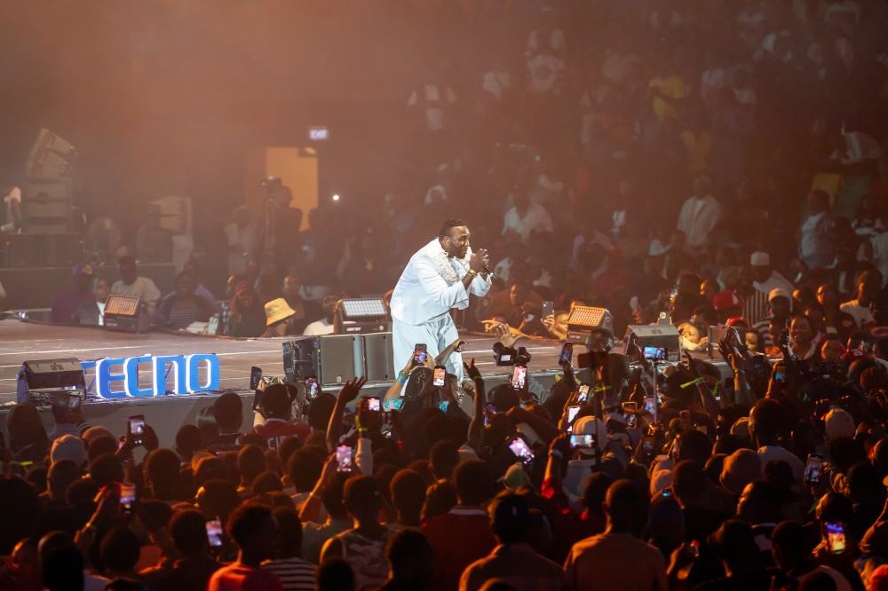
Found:
[{"label": "dark boxy platform beneath the stacked speakers at far left", "polygon": [[83,234],[4,234],[4,264],[11,268],[73,267],[83,262]]}]

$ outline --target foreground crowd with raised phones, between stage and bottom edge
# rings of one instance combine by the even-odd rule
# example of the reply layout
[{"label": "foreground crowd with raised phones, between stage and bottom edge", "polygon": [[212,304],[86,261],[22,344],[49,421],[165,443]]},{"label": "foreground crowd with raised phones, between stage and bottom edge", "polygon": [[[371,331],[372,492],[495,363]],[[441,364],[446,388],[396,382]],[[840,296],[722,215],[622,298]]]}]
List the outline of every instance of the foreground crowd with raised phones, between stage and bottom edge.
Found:
[{"label": "foreground crowd with raised phones, between stage and bottom edge", "polygon": [[260,385],[251,429],[222,394],[170,442],[19,404],[0,587],[888,588],[888,347],[803,359],[799,319],[770,359],[728,331],[732,380],[593,329],[550,389],[488,390],[474,359],[439,381],[456,342],[380,398]]}]

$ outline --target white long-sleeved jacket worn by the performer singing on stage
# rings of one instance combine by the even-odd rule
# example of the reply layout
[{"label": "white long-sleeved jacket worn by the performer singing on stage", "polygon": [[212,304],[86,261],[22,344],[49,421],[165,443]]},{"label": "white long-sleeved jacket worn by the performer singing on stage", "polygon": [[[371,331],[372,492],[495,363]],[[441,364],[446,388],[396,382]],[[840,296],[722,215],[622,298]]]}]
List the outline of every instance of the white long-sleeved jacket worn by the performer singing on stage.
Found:
[{"label": "white long-sleeved jacket worn by the performer singing on stage", "polygon": [[[468,256],[462,261],[448,258],[438,239],[420,248],[401,273],[392,293],[392,318],[404,324],[420,325],[447,314],[451,308],[465,310],[469,293],[484,296],[490,279],[472,280],[467,293],[462,279],[468,268]],[[447,277],[447,279],[445,279]]]}]

